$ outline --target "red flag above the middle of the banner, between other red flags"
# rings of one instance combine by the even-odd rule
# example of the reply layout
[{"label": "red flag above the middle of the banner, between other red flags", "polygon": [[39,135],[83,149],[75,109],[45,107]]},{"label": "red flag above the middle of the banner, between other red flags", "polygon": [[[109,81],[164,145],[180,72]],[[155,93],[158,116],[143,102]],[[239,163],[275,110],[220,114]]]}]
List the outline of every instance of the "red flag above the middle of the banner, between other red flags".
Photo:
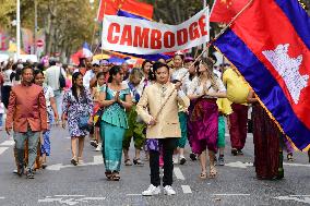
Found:
[{"label": "red flag above the middle of the banner, between other red flags", "polygon": [[129,13],[152,20],[154,8],[153,5],[136,0],[120,0],[122,1],[120,9]]}]

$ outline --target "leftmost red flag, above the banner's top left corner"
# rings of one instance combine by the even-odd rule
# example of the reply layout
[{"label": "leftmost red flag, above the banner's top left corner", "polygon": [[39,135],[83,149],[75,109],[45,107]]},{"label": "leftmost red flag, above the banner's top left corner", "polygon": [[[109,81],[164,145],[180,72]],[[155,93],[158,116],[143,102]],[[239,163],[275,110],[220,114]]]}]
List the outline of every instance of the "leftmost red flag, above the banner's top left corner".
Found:
[{"label": "leftmost red flag, above the banner's top left corner", "polygon": [[100,0],[97,20],[103,21],[105,14],[116,15],[121,3],[122,0]]}]

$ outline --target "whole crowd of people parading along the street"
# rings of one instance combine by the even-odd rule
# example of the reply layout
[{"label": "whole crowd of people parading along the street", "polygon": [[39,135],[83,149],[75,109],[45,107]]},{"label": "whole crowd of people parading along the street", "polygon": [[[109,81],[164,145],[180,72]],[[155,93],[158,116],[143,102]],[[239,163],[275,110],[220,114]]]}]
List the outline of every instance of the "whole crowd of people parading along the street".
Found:
[{"label": "whole crowd of people parading along the street", "polygon": [[257,177],[282,179],[283,148],[294,160],[289,141],[237,69],[215,63],[214,57],[195,61],[177,52],[170,61],[145,60],[141,68],[107,59],[84,59],[78,68],[52,58],[48,64],[1,64],[0,113],[7,112],[5,131],[14,131],[16,173],[33,179],[36,169],[48,167],[51,124],[58,124],[69,130],[72,165],[83,165],[90,135],[90,144],[103,154],[108,180],[120,180],[123,154],[128,167],[150,161],[151,185],[143,195],[160,193],[159,168],[164,192],[174,195],[174,163],[187,163],[187,144],[190,159],[200,161],[199,178],[218,175],[215,166],[225,165],[227,123],[231,155],[243,155],[252,131]]}]

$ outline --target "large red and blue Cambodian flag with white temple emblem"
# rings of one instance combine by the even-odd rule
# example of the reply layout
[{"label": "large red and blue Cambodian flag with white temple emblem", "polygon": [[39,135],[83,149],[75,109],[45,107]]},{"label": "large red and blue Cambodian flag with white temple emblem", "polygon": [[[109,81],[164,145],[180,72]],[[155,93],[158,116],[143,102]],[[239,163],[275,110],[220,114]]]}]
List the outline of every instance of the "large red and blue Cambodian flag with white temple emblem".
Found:
[{"label": "large red and blue Cambodian flag with white temple emblem", "polygon": [[254,0],[216,41],[300,150],[310,147],[310,17],[297,0]]}]

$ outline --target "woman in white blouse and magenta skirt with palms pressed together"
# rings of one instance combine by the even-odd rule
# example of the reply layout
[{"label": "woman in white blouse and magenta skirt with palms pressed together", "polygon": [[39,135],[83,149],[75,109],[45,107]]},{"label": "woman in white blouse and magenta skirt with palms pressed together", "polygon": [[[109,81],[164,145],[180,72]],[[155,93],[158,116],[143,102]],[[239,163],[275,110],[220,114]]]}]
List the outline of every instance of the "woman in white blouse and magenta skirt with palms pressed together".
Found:
[{"label": "woman in white blouse and magenta skirt with palms pressed together", "polygon": [[192,150],[200,155],[201,179],[206,179],[206,148],[210,157],[210,178],[215,178],[217,171],[214,166],[217,150],[218,108],[217,98],[226,97],[226,88],[213,74],[213,61],[201,60],[198,77],[192,81],[188,90],[191,100],[195,99],[194,109],[189,118],[193,126]]}]

